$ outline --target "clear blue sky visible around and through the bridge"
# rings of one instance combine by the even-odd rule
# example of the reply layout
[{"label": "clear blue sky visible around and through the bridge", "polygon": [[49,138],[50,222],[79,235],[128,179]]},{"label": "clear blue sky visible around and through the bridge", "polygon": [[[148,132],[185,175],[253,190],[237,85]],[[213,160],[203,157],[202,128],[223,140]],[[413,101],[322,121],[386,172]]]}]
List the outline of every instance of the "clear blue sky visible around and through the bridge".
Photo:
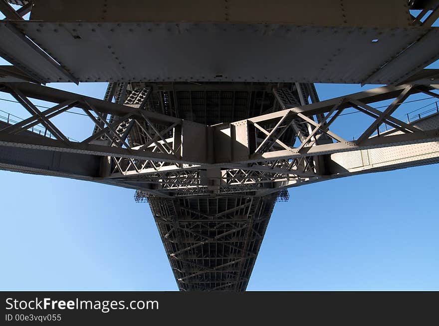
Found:
[{"label": "clear blue sky visible around and through the bridge", "polygon": [[[97,98],[106,89],[48,86]],[[324,100],[373,87],[317,90]],[[394,115],[432,108],[425,98]],[[0,109],[26,117],[14,103],[0,101]],[[92,130],[76,114],[54,121],[75,139]],[[362,123],[351,114],[333,127],[351,139]],[[247,290],[439,290],[438,177],[429,165],[290,189]],[[7,171],[0,185],[0,290],[177,290],[149,206],[135,203],[133,190]]]}]

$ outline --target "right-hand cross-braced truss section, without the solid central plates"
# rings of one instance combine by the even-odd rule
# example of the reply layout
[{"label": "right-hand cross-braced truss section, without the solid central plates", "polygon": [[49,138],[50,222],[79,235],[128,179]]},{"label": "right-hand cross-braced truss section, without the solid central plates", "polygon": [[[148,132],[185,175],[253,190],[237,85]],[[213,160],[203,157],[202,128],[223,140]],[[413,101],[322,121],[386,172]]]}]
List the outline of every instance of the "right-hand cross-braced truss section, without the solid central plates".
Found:
[{"label": "right-hand cross-braced truss section, without the solid central plates", "polygon": [[[294,159],[296,157],[330,154],[340,151],[351,151],[366,148],[377,148],[380,146],[396,146],[416,142],[434,141],[438,137],[437,130],[420,130],[406,122],[396,119],[391,114],[414,93],[426,93],[432,97],[439,97],[433,93],[435,88],[432,86],[413,86],[403,85],[391,88],[392,98],[395,97],[393,103],[384,111],[372,108],[370,98],[359,98],[358,94],[342,97],[330,101],[321,102],[319,106],[310,105],[308,107],[292,108],[282,110],[275,113],[262,115],[246,120],[249,134],[254,134],[254,139],[249,138],[249,160],[246,162],[258,162],[264,159]],[[377,90],[378,91],[378,90]],[[389,93],[387,93],[389,94]],[[386,97],[386,100],[390,99]],[[359,130],[361,135],[352,141],[348,141],[343,137],[329,130],[329,126],[339,117],[339,115],[347,108],[354,108],[358,111],[372,117],[374,121],[365,130]],[[320,122],[316,122],[312,115],[326,115]],[[303,140],[300,139],[298,147],[288,146],[279,141],[279,136],[288,128],[295,120],[298,123],[307,123],[311,126],[311,131]],[[238,122],[239,123],[239,122]],[[264,128],[265,125],[275,126]],[[295,122],[297,123],[297,122]],[[380,137],[379,127],[382,124],[389,125],[394,131],[401,131],[402,134],[390,134]],[[371,137],[378,131],[377,137]],[[262,137],[258,137],[262,132]],[[332,141],[319,144],[319,140],[323,135],[329,137]]]}]

